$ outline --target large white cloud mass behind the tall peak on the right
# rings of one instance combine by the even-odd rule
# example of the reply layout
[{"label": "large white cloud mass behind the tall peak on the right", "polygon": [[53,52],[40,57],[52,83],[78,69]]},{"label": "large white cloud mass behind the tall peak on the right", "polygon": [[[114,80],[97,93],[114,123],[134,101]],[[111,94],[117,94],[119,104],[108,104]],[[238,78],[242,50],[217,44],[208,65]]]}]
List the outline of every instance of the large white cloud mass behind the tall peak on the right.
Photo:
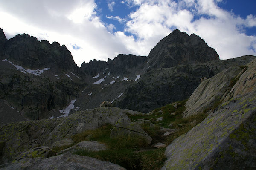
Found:
[{"label": "large white cloud mass behind the tall peak on the right", "polygon": [[152,48],[157,43],[156,40],[177,28],[188,34],[199,35],[218,52],[221,59],[256,55],[256,36],[244,33],[244,27],[256,26],[256,17],[248,15],[246,19],[242,19],[235,16],[218,7],[221,0],[127,2],[140,5],[137,11],[129,15],[131,20],[126,23],[125,29],[136,35],[140,44],[151,41],[152,44],[147,45]]}]

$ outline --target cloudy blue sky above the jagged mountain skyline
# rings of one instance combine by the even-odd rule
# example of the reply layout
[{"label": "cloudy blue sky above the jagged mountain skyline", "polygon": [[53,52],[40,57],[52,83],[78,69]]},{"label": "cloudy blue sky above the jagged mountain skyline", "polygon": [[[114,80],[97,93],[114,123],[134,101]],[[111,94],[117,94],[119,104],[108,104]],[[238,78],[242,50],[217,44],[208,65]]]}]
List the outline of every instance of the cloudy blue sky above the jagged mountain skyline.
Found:
[{"label": "cloudy blue sky above the jagged mountain skyline", "polygon": [[256,55],[256,0],[0,0],[6,38],[65,45],[80,67],[118,54],[147,56],[174,29],[199,35],[220,59]]}]

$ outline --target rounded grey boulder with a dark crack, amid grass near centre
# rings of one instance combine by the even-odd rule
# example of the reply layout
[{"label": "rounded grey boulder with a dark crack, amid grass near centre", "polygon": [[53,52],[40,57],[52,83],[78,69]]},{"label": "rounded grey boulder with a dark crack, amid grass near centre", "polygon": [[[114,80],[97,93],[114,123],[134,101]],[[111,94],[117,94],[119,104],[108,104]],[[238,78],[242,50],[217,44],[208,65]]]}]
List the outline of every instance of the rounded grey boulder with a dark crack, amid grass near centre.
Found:
[{"label": "rounded grey boulder with a dark crack, amid grass near centre", "polygon": [[137,123],[127,121],[125,119],[119,119],[116,122],[115,127],[111,130],[111,138],[115,138],[123,135],[134,135],[145,138],[147,144],[150,144],[152,138],[138,125]]}]

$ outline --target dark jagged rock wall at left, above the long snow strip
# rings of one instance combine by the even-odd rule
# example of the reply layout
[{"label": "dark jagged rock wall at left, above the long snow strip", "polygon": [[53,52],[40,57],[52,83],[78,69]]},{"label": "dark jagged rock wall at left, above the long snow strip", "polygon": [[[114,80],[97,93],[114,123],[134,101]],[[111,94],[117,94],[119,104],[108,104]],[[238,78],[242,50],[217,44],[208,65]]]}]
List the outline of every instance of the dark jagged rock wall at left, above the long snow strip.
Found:
[{"label": "dark jagged rock wall at left, above the long snow strip", "polygon": [[39,42],[26,34],[16,35],[7,41],[4,57],[30,69],[59,67],[78,73],[78,67],[64,45],[60,46],[57,42],[50,44],[44,40]]}]

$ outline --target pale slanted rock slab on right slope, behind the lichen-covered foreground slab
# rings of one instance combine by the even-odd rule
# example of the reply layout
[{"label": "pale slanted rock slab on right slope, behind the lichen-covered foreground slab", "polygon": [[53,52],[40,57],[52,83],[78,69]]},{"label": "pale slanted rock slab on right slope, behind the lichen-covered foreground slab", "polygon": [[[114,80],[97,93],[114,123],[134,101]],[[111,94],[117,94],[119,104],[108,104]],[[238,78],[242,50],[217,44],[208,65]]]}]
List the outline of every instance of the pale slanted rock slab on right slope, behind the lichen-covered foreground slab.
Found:
[{"label": "pale slanted rock slab on right slope, behind the lichen-covered foreground slab", "polygon": [[230,92],[231,79],[235,78],[241,70],[239,67],[231,67],[201,82],[186,102],[183,117],[196,115],[210,109],[214,103],[220,102],[225,92]]}]

